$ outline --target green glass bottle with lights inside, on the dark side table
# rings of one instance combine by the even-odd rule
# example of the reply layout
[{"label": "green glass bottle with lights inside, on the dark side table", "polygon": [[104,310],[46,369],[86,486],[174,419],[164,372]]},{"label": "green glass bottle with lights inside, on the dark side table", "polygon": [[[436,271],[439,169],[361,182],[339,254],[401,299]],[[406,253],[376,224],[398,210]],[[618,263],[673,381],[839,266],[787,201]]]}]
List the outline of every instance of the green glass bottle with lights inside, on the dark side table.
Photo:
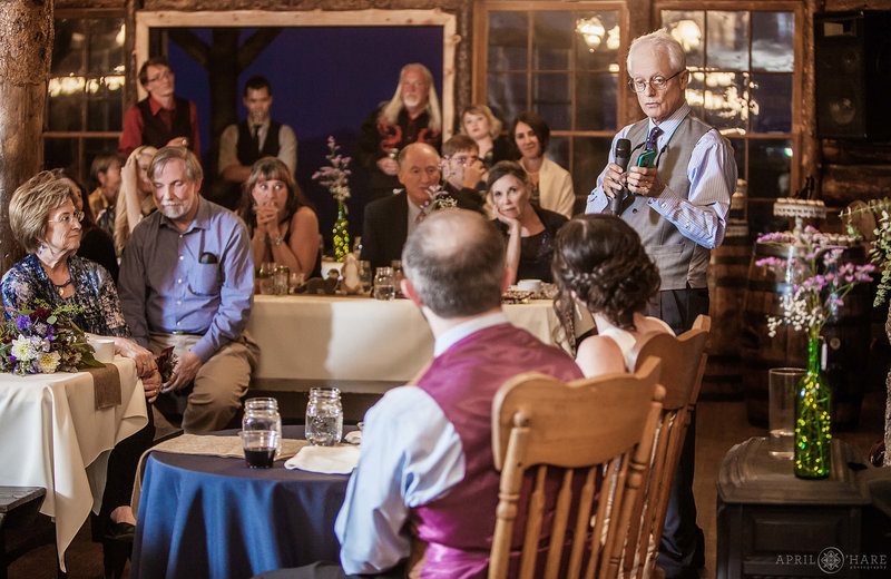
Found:
[{"label": "green glass bottle with lights inside, on the dark side table", "polygon": [[795,477],[829,477],[832,443],[832,394],[821,366],[820,337],[807,340],[807,373],[795,396]]}]

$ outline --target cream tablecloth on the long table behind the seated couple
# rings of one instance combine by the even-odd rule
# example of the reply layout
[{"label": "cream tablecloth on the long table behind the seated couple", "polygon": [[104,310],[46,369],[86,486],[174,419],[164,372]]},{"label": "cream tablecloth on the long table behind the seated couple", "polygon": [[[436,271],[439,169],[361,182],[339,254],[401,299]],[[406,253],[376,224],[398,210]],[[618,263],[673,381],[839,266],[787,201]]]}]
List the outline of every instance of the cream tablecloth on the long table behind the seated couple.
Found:
[{"label": "cream tablecloth on the long table behind the seated couple", "polygon": [[[503,308],[513,324],[552,343],[549,300]],[[257,295],[247,331],[260,344],[253,383],[261,387],[382,392],[433,357],[433,334],[409,300]]]}]

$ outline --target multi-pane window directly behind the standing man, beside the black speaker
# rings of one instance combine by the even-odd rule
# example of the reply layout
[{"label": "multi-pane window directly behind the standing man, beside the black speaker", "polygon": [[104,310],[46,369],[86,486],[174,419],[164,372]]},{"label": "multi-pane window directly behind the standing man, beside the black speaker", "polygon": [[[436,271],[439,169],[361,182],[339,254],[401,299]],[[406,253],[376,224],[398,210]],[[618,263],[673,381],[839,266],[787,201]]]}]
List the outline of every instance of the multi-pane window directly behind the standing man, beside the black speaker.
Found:
[{"label": "multi-pane window directly behind the standing man, beside the black speaker", "polygon": [[740,177],[748,183],[750,227],[756,233],[774,228],[773,200],[790,195],[797,175],[795,12],[660,13],[687,52],[687,102],[736,151]]}]

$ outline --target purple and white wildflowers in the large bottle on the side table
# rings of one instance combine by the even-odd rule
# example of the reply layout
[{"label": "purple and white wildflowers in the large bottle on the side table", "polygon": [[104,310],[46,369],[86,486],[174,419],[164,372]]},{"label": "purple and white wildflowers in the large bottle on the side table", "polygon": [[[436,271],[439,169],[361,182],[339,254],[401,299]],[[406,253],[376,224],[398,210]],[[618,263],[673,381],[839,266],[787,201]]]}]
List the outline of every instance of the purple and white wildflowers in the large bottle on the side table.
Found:
[{"label": "purple and white wildflowers in the large bottle on the side table", "polygon": [[792,282],[792,292],[782,296],[783,315],[767,316],[767,333],[776,335],[781,325],[804,330],[809,340],[819,340],[826,320],[836,307],[844,305],[844,296],[862,282],[870,282],[875,271],[871,264],[854,265],[842,262],[844,247],[832,244],[828,236],[812,226],[801,233],[771,233],[758,237],[760,243],[793,244],[800,255],[790,259],[765,257],[755,262],[784,274]]}]

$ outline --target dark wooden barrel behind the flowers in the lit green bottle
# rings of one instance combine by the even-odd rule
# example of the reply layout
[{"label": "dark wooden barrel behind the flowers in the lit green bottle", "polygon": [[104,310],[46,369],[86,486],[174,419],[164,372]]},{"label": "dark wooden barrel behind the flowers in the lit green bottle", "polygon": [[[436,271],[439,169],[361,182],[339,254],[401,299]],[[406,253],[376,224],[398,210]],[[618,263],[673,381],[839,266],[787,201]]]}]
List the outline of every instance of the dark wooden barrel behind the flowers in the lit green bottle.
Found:
[{"label": "dark wooden barrel behind the flowers in the lit green bottle", "polygon": [[[804,331],[780,326],[767,335],[767,315],[782,315],[782,296],[792,292],[792,272],[777,273],[755,263],[773,256],[790,259],[803,249],[792,245],[756,243],[742,320],[743,390],[748,421],[767,424],[767,371],[779,366],[806,365],[807,338]],[[862,246],[849,247],[843,262],[865,263]],[[832,423],[839,429],[856,426],[863,398],[863,369],[868,364],[871,295],[868,284],[860,284],[844,297],[823,326],[829,346],[825,376],[832,387]]]}]

